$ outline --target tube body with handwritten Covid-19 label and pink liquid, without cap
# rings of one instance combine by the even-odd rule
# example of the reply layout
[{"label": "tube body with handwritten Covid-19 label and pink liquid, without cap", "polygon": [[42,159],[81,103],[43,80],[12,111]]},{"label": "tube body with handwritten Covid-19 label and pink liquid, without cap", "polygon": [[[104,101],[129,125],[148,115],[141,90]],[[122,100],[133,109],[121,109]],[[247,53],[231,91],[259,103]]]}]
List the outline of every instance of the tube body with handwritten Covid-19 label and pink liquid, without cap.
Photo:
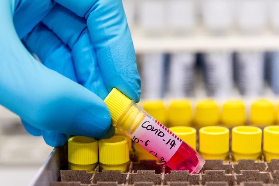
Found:
[{"label": "tube body with handwritten Covid-19 label and pink liquid, without cap", "polygon": [[130,137],[172,170],[198,174],[205,164],[203,157],[191,146],[149,115]]}]

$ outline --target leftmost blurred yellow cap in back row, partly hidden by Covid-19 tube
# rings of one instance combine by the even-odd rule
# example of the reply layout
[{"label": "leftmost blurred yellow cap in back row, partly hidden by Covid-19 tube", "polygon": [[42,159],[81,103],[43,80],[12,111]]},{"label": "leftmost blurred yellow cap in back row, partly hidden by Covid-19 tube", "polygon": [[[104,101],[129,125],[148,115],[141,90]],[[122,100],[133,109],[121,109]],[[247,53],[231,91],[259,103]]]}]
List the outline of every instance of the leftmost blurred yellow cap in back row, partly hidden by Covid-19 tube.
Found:
[{"label": "leftmost blurred yellow cap in back row, partly hidden by Covid-19 tube", "polygon": [[143,109],[155,119],[160,121],[160,123],[166,124],[167,110],[162,100],[146,100],[144,101]]}]

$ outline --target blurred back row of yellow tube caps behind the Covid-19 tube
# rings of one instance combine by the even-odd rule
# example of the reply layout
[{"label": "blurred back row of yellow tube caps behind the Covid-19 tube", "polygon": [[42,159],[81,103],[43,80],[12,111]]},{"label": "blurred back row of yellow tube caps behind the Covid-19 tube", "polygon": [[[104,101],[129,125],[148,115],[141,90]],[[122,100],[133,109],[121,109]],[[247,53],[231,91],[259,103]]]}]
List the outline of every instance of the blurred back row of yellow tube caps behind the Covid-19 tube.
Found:
[{"label": "blurred back row of yellow tube caps behind the Covid-19 tube", "polygon": [[[171,101],[169,109],[161,100],[143,101],[143,109],[163,124],[171,126],[197,127],[218,125],[239,126],[246,124],[246,109],[244,101],[230,100],[223,103],[221,115],[217,101],[213,99],[201,100],[196,103],[193,117],[191,102],[187,99]],[[279,110],[279,109],[278,109]],[[274,105],[267,99],[253,101],[250,108],[250,123],[254,126],[268,126],[279,121],[279,112],[276,114]]]}]

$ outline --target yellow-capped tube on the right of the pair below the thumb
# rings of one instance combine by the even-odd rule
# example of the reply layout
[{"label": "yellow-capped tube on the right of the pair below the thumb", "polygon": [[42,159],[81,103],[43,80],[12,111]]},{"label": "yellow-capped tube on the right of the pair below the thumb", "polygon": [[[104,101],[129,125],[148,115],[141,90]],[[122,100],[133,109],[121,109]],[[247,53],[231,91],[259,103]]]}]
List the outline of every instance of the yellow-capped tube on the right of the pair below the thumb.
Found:
[{"label": "yellow-capped tube on the right of the pair below the thumb", "polygon": [[108,139],[99,140],[99,164],[102,170],[120,170],[128,172],[130,159],[128,139],[114,135]]}]

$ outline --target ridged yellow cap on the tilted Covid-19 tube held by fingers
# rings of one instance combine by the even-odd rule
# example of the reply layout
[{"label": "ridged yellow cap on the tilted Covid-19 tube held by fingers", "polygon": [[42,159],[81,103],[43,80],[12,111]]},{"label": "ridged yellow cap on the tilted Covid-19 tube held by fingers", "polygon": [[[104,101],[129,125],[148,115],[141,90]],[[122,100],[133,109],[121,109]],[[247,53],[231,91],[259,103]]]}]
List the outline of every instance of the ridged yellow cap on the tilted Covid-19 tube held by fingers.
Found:
[{"label": "ridged yellow cap on the tilted Covid-19 tube held by fingers", "polygon": [[131,101],[132,100],[130,100],[116,88],[113,88],[112,91],[110,91],[104,102],[108,106],[108,110],[110,111],[112,125],[115,125],[116,121],[128,108]]}]

